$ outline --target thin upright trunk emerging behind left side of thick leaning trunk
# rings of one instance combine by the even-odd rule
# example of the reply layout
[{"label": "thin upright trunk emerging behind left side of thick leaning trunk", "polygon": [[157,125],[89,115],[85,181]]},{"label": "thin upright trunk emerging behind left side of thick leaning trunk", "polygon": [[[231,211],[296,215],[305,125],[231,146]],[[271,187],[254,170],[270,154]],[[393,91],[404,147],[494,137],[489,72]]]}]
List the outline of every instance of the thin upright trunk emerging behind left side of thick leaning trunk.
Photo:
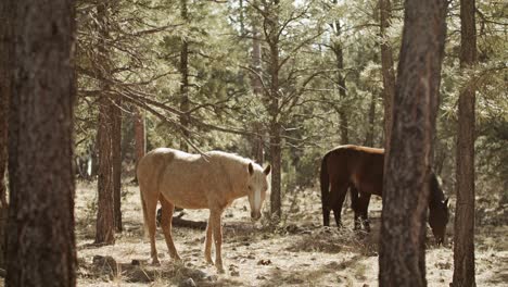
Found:
[{"label": "thin upright trunk emerging behind left side of thick leaning trunk", "polygon": [[380,9],[380,36],[381,36],[381,71],[383,74],[383,98],[384,98],[384,154],[390,153],[390,138],[392,129],[392,105],[395,95],[395,71],[393,70],[393,53],[386,30],[390,28],[392,17],[392,4],[390,0],[379,0]]}]

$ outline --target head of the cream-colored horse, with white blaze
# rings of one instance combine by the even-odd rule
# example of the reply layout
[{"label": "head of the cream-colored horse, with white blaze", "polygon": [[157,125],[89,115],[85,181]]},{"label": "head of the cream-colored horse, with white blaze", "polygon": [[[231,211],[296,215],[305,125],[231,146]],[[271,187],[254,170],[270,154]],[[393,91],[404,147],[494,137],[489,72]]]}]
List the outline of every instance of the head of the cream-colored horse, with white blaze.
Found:
[{"label": "head of the cream-colored horse, with white blaze", "polygon": [[266,191],[268,190],[268,174],[270,165],[265,170],[257,164],[249,163],[249,180],[247,195],[249,203],[251,204],[251,217],[254,221],[259,220],[263,201],[265,201]]}]

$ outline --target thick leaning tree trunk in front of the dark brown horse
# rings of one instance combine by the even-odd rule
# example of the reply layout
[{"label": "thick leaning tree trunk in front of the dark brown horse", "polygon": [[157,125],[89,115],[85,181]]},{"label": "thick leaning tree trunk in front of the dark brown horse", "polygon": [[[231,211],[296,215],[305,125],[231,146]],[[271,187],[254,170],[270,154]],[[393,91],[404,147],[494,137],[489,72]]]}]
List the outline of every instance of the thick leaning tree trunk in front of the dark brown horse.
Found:
[{"label": "thick leaning tree trunk in front of the dark brown horse", "polygon": [[427,286],[428,179],[444,54],[445,17],[444,0],[406,0],[390,155],[385,158],[380,286]]}]

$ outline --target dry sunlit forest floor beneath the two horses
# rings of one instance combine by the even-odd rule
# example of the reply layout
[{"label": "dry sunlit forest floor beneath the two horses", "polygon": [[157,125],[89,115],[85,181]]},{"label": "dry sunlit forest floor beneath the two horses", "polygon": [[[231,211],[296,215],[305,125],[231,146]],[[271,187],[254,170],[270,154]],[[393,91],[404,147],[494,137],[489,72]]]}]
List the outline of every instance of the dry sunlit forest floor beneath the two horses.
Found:
[{"label": "dry sunlit forest floor beneath the two horses", "polygon": [[[225,274],[204,261],[204,230],[175,227],[173,236],[181,262],[168,253],[162,230],[156,242],[160,266],[150,264],[150,244],[143,237],[139,188],[123,191],[124,232],[114,246],[93,246],[96,184],[79,183],[76,192],[78,286],[378,286],[381,201],[372,198],[373,230],[356,234],[351,228],[321,227],[317,188],[288,195],[281,224],[268,220],[251,223],[249,202],[237,200],[223,214]],[[346,203],[348,204],[348,203]],[[267,209],[269,202],[265,202]],[[207,210],[186,210],[182,219],[205,222]],[[501,222],[478,227],[475,238],[477,286],[507,286],[508,225]],[[176,213],[178,214],[178,212]],[[343,211],[345,226],[353,226],[351,209]],[[332,217],[333,221],[333,217]],[[453,229],[453,220],[448,230]],[[448,232],[448,237],[452,232]],[[428,237],[430,237],[430,229]],[[448,286],[453,250],[428,238],[429,286]],[[191,278],[191,279],[190,279]],[[192,285],[194,283],[195,285]]]}]

